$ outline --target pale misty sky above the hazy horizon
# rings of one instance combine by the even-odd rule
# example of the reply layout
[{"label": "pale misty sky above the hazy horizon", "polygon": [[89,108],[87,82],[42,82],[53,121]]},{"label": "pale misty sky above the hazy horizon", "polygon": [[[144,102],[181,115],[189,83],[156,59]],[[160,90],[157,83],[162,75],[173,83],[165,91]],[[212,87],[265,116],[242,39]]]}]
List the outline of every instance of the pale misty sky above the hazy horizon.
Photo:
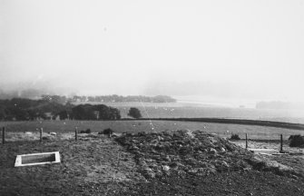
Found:
[{"label": "pale misty sky above the hazy horizon", "polygon": [[304,1],[0,0],[0,88],[304,100]]}]

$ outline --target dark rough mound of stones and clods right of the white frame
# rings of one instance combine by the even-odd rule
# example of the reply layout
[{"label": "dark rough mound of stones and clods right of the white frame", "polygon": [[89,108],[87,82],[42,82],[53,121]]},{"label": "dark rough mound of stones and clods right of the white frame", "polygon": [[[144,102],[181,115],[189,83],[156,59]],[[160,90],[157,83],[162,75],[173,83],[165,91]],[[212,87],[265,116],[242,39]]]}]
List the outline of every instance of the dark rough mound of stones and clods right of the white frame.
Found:
[{"label": "dark rough mound of stones and clods right of the white frame", "polygon": [[253,155],[251,152],[207,132],[139,132],[124,134],[116,141],[135,154],[146,178],[205,176],[252,168],[246,161]]}]

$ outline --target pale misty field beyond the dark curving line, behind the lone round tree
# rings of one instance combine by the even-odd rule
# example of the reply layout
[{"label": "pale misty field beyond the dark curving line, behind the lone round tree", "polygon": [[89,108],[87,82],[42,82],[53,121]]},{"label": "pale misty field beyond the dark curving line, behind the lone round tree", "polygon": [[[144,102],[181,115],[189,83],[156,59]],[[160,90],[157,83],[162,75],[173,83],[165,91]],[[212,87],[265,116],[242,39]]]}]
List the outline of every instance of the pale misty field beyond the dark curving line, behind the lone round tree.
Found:
[{"label": "pale misty field beyond the dark curving line, behind the lone round tree", "polygon": [[[76,103],[80,104],[80,103]],[[83,103],[81,103],[83,104]],[[101,103],[91,103],[101,104]],[[123,118],[130,107],[138,108],[143,118],[237,118],[304,123],[303,111],[233,108],[198,103],[103,103],[118,108]]]}]

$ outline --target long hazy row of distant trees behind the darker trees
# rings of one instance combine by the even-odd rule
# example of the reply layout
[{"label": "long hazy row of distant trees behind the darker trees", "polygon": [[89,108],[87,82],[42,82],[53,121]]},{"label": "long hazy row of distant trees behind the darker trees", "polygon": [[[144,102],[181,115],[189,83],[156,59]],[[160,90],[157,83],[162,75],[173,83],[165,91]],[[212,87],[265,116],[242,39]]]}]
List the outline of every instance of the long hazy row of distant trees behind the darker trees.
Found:
[{"label": "long hazy row of distant trees behind the darker trees", "polygon": [[121,96],[117,94],[103,95],[103,96],[74,96],[66,97],[59,95],[43,94],[42,99],[49,102],[56,103],[75,103],[75,102],[101,102],[101,103],[123,103],[123,102],[142,102],[142,103],[175,103],[176,100],[170,96]]}]

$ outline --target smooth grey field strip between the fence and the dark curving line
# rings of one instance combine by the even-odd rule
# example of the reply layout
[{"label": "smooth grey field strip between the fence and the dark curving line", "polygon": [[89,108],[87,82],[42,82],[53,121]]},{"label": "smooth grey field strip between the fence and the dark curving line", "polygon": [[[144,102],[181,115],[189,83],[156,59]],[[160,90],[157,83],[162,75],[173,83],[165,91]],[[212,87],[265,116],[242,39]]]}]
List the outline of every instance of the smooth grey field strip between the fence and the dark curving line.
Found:
[{"label": "smooth grey field strip between the fence and the dark curving line", "polygon": [[239,125],[206,122],[173,122],[173,121],[42,121],[42,122],[0,122],[0,127],[6,127],[6,132],[44,132],[73,133],[75,127],[79,131],[91,129],[92,132],[101,132],[111,128],[114,132],[162,132],[189,129],[217,133],[222,137],[230,137],[231,133],[238,133],[241,139],[248,133],[249,139],[279,140],[283,134],[284,140],[291,134],[304,134],[304,131],[290,130],[266,126]]}]

